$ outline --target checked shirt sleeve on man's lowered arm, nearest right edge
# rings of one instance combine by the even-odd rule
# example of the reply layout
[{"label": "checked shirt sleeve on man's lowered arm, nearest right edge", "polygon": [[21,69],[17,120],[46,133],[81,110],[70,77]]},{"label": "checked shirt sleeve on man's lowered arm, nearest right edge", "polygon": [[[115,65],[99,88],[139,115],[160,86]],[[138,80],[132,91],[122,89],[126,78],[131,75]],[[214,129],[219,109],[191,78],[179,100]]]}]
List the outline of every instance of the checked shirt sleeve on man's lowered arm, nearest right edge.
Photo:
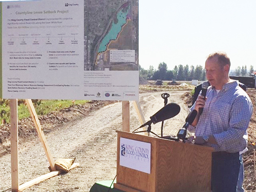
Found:
[{"label": "checked shirt sleeve on man's lowered arm, nearest right edge", "polygon": [[[229,129],[219,134],[214,134],[215,140],[221,151],[232,152],[233,146],[239,144],[242,150],[246,147],[243,135],[249,125],[252,115],[252,103],[246,96],[237,97],[229,114]],[[234,152],[233,152],[234,153]]]}]

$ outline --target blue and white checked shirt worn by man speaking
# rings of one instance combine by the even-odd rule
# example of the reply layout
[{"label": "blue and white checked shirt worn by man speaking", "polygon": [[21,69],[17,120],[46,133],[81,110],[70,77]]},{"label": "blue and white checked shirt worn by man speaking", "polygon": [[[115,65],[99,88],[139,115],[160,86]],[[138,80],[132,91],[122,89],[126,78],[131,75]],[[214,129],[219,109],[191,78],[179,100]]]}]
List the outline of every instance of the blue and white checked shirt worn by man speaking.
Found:
[{"label": "blue and white checked shirt worn by man speaking", "polygon": [[[208,87],[203,113],[195,129],[195,136],[214,135],[218,144],[207,144],[215,151],[236,153],[247,146],[247,127],[252,115],[252,103],[237,81],[226,83],[217,94],[214,87]],[[193,111],[195,104],[191,107]]]}]

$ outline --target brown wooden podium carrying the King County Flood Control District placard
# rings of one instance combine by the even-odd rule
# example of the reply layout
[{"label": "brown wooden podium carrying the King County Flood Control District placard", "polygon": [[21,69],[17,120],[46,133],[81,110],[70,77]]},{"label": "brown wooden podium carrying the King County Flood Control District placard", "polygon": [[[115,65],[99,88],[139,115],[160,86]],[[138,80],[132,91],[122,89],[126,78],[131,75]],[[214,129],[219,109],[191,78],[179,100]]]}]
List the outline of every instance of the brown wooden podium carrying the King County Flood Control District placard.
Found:
[{"label": "brown wooden podium carrying the King County Flood Control District placard", "polygon": [[[208,192],[213,148],[117,131],[117,179],[123,191]],[[120,138],[151,143],[150,174],[120,165]]]}]

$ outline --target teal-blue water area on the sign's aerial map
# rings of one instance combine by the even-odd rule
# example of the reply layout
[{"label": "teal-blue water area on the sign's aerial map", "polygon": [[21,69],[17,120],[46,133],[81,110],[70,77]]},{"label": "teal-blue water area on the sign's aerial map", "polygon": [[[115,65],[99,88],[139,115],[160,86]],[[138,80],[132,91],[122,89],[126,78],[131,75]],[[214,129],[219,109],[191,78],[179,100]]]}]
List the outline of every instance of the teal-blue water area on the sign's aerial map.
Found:
[{"label": "teal-blue water area on the sign's aerial map", "polygon": [[115,24],[112,22],[112,27],[108,34],[102,39],[102,42],[99,46],[98,53],[106,51],[106,48],[108,47],[108,44],[111,40],[115,40],[122,30],[122,26],[126,23],[126,16],[128,14],[129,9],[126,9],[126,12],[123,12],[123,9],[121,9],[117,13],[117,19],[118,22]]}]

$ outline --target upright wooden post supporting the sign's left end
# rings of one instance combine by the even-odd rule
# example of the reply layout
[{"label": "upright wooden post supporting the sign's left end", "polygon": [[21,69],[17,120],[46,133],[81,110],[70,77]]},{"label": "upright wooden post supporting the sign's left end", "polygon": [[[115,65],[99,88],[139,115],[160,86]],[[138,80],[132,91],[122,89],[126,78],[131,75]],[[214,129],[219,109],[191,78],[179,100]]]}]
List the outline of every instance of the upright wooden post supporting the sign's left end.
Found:
[{"label": "upright wooden post supporting the sign's left end", "polygon": [[18,100],[10,99],[12,192],[18,191]]}]

